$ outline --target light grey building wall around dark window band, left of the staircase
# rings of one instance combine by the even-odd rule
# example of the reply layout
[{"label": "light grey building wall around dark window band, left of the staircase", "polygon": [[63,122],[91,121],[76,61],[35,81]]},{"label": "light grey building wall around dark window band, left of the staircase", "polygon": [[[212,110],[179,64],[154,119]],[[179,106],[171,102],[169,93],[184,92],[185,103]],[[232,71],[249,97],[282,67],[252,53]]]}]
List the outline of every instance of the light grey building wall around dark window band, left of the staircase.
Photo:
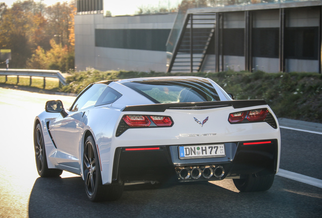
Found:
[{"label": "light grey building wall around dark window band, left of the staircase", "polygon": [[[165,72],[165,51],[95,46],[95,29],[172,29],[176,14],[103,17],[75,16],[75,67],[86,70],[133,70]],[[107,39],[108,40],[108,39]],[[166,46],[166,45],[165,45]]]}]

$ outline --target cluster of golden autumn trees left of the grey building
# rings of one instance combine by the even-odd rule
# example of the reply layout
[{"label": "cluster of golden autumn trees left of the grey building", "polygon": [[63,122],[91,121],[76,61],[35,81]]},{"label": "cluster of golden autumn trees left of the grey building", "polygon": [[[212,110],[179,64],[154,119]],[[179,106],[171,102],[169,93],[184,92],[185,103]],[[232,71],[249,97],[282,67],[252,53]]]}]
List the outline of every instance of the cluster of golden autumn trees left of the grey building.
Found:
[{"label": "cluster of golden autumn trees left of the grey building", "polygon": [[[0,3],[0,48],[11,49],[11,66],[64,71],[73,68],[74,13],[75,7],[67,3],[46,7],[27,0],[17,1],[11,8]],[[64,54],[66,60],[48,64],[50,61],[44,59],[53,57],[47,55],[48,51]]]}]

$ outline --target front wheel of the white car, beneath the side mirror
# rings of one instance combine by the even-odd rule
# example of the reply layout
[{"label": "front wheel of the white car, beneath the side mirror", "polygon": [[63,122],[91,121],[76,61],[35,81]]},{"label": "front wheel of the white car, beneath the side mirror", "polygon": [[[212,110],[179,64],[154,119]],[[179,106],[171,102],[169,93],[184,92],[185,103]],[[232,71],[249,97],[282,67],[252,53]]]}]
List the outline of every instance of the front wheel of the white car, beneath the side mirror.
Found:
[{"label": "front wheel of the white car, beneath the side mirror", "polygon": [[48,169],[44,135],[40,124],[37,124],[34,129],[33,144],[38,175],[41,177],[59,177],[63,173],[62,170]]}]

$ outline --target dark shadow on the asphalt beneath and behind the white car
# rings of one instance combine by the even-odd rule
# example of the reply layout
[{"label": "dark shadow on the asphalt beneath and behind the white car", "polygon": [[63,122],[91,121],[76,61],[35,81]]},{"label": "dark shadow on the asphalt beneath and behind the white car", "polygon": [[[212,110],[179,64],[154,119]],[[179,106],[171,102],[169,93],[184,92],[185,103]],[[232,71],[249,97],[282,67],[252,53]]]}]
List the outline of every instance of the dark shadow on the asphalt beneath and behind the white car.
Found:
[{"label": "dark shadow on the asphalt beneath and behind the white car", "polygon": [[[116,201],[91,202],[81,177],[37,178],[28,205],[29,217],[269,217],[320,214],[320,189],[277,177],[266,192],[241,193],[229,179],[216,182],[126,185]],[[302,209],[305,208],[305,209]],[[256,212],[256,214],[257,214]],[[309,214],[308,213],[308,214]],[[292,216],[291,215],[291,216]],[[256,216],[259,217],[259,216]],[[310,217],[314,217],[310,216]]]}]

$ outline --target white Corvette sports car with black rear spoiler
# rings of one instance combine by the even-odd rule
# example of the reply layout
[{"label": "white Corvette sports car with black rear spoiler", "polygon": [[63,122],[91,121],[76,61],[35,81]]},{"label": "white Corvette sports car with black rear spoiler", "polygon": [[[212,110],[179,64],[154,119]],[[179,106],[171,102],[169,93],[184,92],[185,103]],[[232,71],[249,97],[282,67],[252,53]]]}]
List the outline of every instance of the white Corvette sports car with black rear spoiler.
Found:
[{"label": "white Corvette sports car with black rear spoiler", "polygon": [[38,174],[81,175],[90,200],[125,182],[233,179],[265,191],[279,168],[280,132],[264,100],[233,100],[214,81],[156,77],[90,84],[70,108],[46,103],[34,121]]}]

